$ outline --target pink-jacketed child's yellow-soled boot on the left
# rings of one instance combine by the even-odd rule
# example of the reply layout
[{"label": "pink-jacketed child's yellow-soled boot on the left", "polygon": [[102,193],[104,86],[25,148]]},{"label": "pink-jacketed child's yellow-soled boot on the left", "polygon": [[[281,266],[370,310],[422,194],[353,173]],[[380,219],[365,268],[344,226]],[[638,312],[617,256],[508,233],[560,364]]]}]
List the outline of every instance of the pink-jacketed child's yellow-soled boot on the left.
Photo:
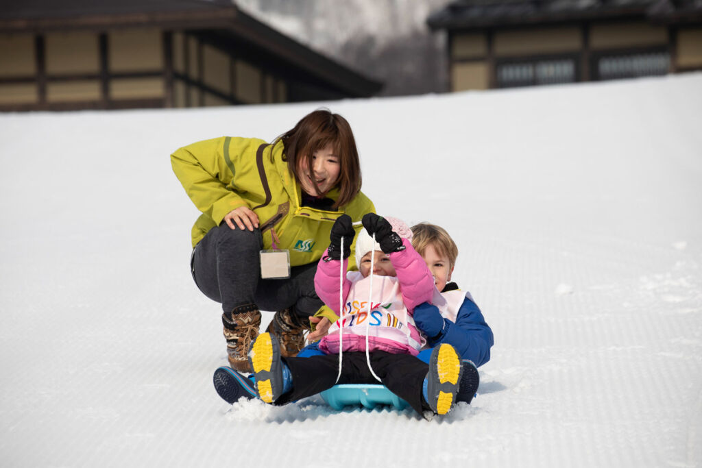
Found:
[{"label": "pink-jacketed child's yellow-soled boot on the left", "polygon": [[280,344],[271,333],[261,333],[251,345],[249,362],[253,368],[254,388],[258,398],[274,403],[293,388],[290,369],[280,357]]}]

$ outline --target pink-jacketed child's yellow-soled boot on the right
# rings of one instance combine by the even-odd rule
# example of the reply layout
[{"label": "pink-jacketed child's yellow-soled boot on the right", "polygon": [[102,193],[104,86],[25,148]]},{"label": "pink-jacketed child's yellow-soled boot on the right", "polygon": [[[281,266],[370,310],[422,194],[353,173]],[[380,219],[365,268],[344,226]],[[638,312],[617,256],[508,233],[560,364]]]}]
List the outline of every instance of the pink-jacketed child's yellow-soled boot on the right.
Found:
[{"label": "pink-jacketed child's yellow-soled boot on the right", "polygon": [[429,372],[423,382],[422,395],[435,414],[445,415],[456,404],[462,373],[461,358],[453,346],[442,343],[434,348],[429,359]]}]

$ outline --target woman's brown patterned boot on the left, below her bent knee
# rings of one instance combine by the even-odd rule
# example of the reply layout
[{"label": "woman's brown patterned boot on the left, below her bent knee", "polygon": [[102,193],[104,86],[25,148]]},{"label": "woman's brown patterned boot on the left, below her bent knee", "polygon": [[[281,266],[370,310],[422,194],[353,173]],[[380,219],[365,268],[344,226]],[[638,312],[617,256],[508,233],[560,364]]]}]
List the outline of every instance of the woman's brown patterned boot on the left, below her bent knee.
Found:
[{"label": "woman's brown patterned boot on the left, below her bent knee", "polygon": [[227,340],[229,365],[239,372],[253,372],[249,365],[249,347],[258,336],[261,313],[256,304],[234,307],[230,314],[222,314],[224,337]]}]

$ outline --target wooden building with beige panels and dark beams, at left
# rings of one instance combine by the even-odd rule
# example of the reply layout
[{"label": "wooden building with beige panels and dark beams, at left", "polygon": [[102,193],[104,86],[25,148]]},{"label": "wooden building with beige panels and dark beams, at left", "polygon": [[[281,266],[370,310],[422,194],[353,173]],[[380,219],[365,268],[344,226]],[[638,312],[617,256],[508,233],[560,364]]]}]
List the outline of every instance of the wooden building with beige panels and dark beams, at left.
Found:
[{"label": "wooden building with beige panels and dark beams, at left", "polygon": [[333,100],[380,87],[230,0],[0,0],[0,111]]}]

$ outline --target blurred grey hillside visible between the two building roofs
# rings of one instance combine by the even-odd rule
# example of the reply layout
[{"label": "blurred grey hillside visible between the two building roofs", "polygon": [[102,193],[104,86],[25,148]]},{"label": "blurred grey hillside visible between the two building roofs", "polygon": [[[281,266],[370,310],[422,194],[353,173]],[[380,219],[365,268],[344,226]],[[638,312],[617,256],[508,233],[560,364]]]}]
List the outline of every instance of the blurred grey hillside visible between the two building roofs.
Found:
[{"label": "blurred grey hillside visible between the two building roofs", "polygon": [[381,96],[448,89],[446,35],[428,16],[449,0],[235,0],[258,20],[385,83]]}]

